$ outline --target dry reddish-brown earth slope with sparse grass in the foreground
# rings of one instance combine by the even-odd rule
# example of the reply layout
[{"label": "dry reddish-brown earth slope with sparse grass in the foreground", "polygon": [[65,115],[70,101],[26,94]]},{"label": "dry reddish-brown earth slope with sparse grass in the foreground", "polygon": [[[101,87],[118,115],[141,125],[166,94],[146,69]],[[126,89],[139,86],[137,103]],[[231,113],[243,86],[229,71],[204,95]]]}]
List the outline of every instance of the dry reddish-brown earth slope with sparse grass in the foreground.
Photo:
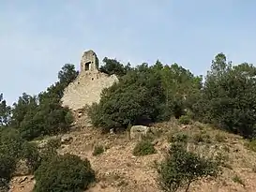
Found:
[{"label": "dry reddish-brown earth slope with sparse grass in the foreground", "polygon": [[[79,126],[81,123],[78,123]],[[96,129],[82,128],[72,131],[68,137],[72,141],[62,145],[60,154],[70,153],[82,158],[89,158],[97,172],[98,182],[89,192],[157,192],[157,172],[154,162],[160,161],[168,150],[168,139],[176,133],[187,134],[191,140],[190,150],[194,152],[212,151],[223,155],[223,174],[218,180],[204,180],[191,186],[194,192],[253,192],[256,189],[256,153],[245,147],[246,140],[233,134],[225,133],[209,126],[194,123],[179,126],[176,121],[153,125],[155,128],[154,144],[158,151],[154,155],[134,156],[132,150],[136,140],[129,140],[127,134],[101,135]],[[196,144],[193,144],[196,143]],[[100,155],[92,155],[94,147],[106,148]],[[25,181],[13,178],[11,191],[29,192],[32,190],[33,176]]]}]

